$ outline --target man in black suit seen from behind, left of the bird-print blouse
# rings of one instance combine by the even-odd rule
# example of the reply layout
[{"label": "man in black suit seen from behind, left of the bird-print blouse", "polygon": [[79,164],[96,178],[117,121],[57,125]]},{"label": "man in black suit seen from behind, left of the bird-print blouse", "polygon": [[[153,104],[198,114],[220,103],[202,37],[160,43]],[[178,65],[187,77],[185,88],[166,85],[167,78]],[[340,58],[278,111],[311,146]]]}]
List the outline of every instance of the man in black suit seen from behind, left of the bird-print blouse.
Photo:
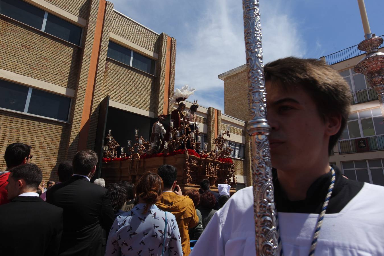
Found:
[{"label": "man in black suit seen from behind, left of the bird-print blouse", "polygon": [[90,182],[98,156],[81,150],[73,158],[70,180],[47,191],[46,201],[63,208],[63,236],[59,255],[94,256],[104,253],[102,229],[111,228],[114,213],[107,190]]}]

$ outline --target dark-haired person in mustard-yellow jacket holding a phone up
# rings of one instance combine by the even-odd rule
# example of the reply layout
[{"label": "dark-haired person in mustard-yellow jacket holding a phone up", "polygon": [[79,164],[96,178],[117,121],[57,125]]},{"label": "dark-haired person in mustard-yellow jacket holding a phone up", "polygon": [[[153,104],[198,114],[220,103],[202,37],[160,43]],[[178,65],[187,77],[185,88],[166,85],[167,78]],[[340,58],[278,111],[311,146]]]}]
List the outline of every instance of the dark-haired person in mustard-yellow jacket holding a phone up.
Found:
[{"label": "dark-haired person in mustard-yellow jacket holding a phone up", "polygon": [[176,185],[177,169],[174,166],[161,165],[157,169],[157,174],[163,180],[164,191],[156,205],[159,209],[175,215],[180,231],[181,246],[184,255],[188,256],[191,251],[188,230],[199,223],[194,203],[189,197],[183,197],[179,185]]}]

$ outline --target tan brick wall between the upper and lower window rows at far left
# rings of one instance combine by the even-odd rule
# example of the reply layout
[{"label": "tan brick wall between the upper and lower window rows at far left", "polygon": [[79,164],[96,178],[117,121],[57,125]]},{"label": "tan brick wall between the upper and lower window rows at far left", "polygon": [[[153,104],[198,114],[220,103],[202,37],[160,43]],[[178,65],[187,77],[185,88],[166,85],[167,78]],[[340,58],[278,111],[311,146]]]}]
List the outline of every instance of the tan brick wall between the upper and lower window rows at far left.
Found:
[{"label": "tan brick wall between the upper and lower window rows at far left", "polygon": [[0,68],[75,89],[81,48],[0,17]]}]

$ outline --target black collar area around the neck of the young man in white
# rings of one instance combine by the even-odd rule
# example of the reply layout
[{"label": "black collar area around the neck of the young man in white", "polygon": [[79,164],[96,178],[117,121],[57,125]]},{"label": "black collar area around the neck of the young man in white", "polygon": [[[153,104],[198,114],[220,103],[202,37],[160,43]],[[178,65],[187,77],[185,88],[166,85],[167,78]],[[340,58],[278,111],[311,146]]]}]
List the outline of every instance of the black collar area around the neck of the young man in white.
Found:
[{"label": "black collar area around the neck of the young man in white", "polygon": [[[343,177],[340,170],[333,166],[336,172],[336,179],[331,198],[329,200],[327,213],[338,213],[354,196],[359,193],[364,183],[347,180]],[[280,212],[295,213],[320,213],[323,207],[324,199],[331,183],[331,172],[328,172],[317,178],[308,188],[306,198],[299,201],[290,201],[281,188],[277,172],[273,172],[273,186],[275,188],[276,208]],[[300,184],[298,184],[300,186]]]}]

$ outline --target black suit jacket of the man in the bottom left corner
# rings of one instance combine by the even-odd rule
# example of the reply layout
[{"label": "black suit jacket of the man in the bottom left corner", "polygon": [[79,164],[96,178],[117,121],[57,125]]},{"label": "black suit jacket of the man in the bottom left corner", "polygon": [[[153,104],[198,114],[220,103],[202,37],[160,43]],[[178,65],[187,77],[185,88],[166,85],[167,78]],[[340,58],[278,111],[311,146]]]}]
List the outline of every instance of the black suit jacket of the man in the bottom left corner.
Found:
[{"label": "black suit jacket of the man in the bottom left corner", "polygon": [[0,205],[0,254],[58,255],[63,209],[40,197],[16,197]]}]

